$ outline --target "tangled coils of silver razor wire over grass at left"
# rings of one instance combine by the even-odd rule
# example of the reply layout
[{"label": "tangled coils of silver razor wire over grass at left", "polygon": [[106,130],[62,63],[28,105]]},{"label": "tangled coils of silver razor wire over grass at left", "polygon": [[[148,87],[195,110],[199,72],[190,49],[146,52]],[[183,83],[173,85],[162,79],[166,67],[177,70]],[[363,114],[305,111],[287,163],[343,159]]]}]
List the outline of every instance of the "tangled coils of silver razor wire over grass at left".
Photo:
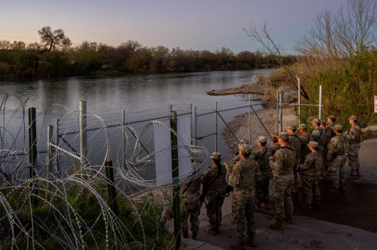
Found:
[{"label": "tangled coils of silver razor wire over grass at left", "polygon": [[[156,207],[152,198],[138,202],[133,199],[132,193],[135,190],[155,190],[163,194],[166,189],[199,178],[210,164],[208,150],[197,146],[200,145],[199,141],[188,144],[163,121],[149,121],[136,130],[121,123],[106,124],[100,116],[87,114],[87,129],[99,125],[100,129],[88,132],[85,166],[76,168],[74,158],[56,150],[47,162],[46,150],[43,150],[47,144],[46,127],[54,124],[54,121],[46,121],[46,113],[52,107],[61,109],[64,114],[58,117],[63,129],[59,130],[59,137],[55,134],[53,137],[59,139],[54,139],[51,143],[55,142],[57,146],[74,154],[74,148],[79,148],[78,133],[67,135],[80,127],[78,112],[51,104],[37,115],[36,120],[42,121],[36,140],[38,162],[34,168],[36,176],[30,178],[29,170],[32,166],[29,163],[29,146],[26,146],[28,124],[25,124],[27,101],[5,95],[0,105],[0,249],[158,248],[159,240],[167,234],[164,228],[166,229],[171,200],[164,199],[161,206]],[[8,113],[12,115],[7,116]],[[9,127],[16,120],[20,127]],[[181,142],[179,146],[150,150],[154,148],[153,124],[164,126],[176,135]],[[123,133],[127,152],[125,162],[122,160],[122,144],[117,138],[110,136],[117,134],[115,137],[119,137]],[[141,145],[141,138],[144,146]],[[150,150],[149,153],[146,153],[145,147]],[[155,171],[156,156],[170,154],[176,148],[187,151],[192,161],[192,171],[180,178],[160,183],[150,173],[151,170]],[[113,161],[114,183],[105,173],[105,163],[109,160]],[[56,167],[58,162],[61,165],[59,175]],[[49,171],[50,164],[54,166],[52,172]],[[124,218],[116,216],[110,209],[107,202],[108,185],[115,187],[117,200],[122,201],[119,203],[127,204],[133,218],[129,223],[124,223]],[[38,201],[38,206],[33,204],[33,199]],[[95,210],[87,211],[93,207]],[[124,209],[120,207],[120,210]],[[90,218],[88,214],[91,215]],[[149,218],[147,224],[146,217]],[[151,242],[146,235],[153,230],[154,241]],[[172,239],[171,242],[168,240],[164,248],[174,244],[174,238],[171,236],[169,239]]]}]

